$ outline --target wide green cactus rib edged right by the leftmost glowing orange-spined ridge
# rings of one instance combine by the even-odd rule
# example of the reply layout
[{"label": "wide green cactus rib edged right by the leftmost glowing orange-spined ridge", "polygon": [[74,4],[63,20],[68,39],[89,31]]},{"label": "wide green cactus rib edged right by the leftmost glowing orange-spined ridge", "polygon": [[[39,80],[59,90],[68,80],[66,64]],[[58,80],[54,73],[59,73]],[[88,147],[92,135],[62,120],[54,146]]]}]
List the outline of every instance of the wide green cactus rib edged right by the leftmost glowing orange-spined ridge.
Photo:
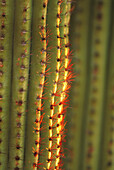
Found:
[{"label": "wide green cactus rib edged right by the leftmost glowing orange-spined ridge", "polygon": [[46,68],[46,14],[47,0],[33,1],[32,56],[28,96],[27,134],[24,169],[40,168],[39,156],[43,88]]}]

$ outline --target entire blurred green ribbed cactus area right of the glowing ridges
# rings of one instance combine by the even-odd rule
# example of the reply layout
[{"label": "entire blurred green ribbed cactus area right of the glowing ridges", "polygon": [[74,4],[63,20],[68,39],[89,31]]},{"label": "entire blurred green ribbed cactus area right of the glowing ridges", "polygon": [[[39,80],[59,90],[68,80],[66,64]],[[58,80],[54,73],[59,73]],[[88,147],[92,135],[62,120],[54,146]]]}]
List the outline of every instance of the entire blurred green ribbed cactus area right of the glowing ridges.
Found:
[{"label": "entire blurred green ribbed cactus area right of the glowing ridges", "polygon": [[73,0],[72,9],[64,169],[114,170],[114,0]]}]

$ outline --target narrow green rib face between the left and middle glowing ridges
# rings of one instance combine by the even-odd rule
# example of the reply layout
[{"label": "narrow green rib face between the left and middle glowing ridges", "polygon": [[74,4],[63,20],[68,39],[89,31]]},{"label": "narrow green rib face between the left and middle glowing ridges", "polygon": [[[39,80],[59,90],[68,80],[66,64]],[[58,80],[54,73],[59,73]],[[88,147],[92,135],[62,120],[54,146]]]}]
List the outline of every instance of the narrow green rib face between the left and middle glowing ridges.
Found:
[{"label": "narrow green rib face between the left and middle glowing ridges", "polygon": [[[53,88],[54,88],[54,81],[56,79],[56,65],[57,65],[57,0],[53,1],[50,0],[48,1],[47,5],[47,18],[46,18],[46,25],[47,25],[47,68],[46,71],[48,70],[48,75],[46,76],[45,79],[45,84],[44,84],[44,98],[46,100],[43,100],[43,112],[44,117],[43,117],[43,122],[44,124],[41,125],[42,127],[42,133],[41,133],[41,155],[39,158],[39,162],[41,163],[40,167],[41,169],[51,169],[52,164],[54,162],[53,159],[53,150],[52,148],[52,143],[54,140],[54,135],[53,135],[53,114],[54,114],[54,107],[55,107],[55,101],[52,96],[53,93]],[[51,65],[51,63],[53,63]]]}]

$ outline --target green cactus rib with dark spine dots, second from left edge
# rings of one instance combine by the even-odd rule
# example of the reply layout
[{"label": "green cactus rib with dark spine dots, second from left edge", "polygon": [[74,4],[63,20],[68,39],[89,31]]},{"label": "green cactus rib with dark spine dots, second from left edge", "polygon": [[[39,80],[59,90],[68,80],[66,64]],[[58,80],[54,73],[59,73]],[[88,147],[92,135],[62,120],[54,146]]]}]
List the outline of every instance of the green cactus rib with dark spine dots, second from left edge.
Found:
[{"label": "green cactus rib with dark spine dots, second from left edge", "polygon": [[15,5],[12,101],[10,114],[9,170],[23,169],[25,118],[28,91],[32,1],[18,0]]}]

